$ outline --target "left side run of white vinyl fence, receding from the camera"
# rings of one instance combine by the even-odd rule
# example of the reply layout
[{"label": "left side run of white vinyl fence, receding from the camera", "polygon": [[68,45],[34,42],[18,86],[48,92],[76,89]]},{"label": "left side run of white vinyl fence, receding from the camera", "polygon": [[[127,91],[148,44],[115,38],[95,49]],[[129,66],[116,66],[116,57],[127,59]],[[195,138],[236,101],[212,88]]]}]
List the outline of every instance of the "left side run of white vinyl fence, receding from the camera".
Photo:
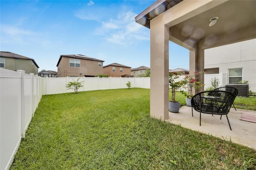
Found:
[{"label": "left side run of white vinyl fence, receding from the camera", "polygon": [[8,169],[42,97],[42,78],[0,69],[0,169]]}]

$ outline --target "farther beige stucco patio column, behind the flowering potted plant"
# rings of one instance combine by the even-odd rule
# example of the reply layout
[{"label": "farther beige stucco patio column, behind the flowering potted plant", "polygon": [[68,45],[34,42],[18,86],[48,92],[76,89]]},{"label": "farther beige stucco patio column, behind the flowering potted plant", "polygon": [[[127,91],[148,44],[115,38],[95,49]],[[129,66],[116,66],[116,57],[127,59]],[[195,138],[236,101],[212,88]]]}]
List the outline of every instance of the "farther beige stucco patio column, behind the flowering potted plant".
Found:
[{"label": "farther beige stucco patio column, behind the flowering potted plant", "polygon": [[[196,45],[196,48],[189,50],[189,74],[194,75],[196,71],[204,71],[204,49]],[[204,84],[204,73],[198,75],[198,81]],[[204,91],[204,87],[199,90],[192,89],[192,93],[196,94]]]}]

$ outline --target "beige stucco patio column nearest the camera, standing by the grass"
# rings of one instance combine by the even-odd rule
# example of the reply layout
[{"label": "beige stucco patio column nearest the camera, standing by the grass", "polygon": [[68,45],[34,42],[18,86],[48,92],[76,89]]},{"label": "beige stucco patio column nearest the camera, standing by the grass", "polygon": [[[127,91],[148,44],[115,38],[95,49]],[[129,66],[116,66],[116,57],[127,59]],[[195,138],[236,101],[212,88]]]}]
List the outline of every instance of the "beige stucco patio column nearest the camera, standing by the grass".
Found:
[{"label": "beige stucco patio column nearest the camera, standing by the grass", "polygon": [[169,28],[150,21],[150,116],[169,119]]}]

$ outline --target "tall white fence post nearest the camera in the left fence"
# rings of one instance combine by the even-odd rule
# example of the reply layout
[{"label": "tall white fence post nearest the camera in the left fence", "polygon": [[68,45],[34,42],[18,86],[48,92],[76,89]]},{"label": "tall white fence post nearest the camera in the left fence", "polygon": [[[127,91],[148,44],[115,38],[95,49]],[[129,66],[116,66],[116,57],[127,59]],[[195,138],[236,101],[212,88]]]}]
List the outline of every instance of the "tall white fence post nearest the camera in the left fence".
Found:
[{"label": "tall white fence post nearest the camera in the left fence", "polygon": [[25,137],[25,71],[24,70],[17,70],[17,72],[21,72],[21,102],[20,102],[20,116],[21,116],[21,136],[24,138]]}]

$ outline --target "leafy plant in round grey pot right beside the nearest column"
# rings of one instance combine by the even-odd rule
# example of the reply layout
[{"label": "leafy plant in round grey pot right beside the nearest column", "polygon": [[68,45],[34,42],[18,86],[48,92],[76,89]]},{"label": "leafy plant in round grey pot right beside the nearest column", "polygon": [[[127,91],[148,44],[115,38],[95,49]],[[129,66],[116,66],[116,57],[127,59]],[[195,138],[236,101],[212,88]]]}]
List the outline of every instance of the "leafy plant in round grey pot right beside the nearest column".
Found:
[{"label": "leafy plant in round grey pot right beside the nearest column", "polygon": [[172,100],[169,101],[169,111],[177,113],[180,110],[180,102],[175,100],[176,91],[184,86],[184,79],[179,80],[180,75],[169,73],[169,90],[172,91]]}]

